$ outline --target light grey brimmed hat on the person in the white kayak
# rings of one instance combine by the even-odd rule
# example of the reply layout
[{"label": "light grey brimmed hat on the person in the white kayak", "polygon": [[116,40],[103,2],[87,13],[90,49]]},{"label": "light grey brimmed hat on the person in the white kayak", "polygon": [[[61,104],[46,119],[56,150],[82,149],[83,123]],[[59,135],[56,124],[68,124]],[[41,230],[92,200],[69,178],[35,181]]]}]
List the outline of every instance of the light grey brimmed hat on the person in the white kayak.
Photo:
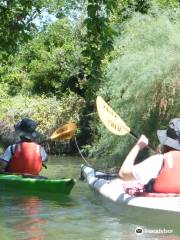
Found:
[{"label": "light grey brimmed hat on the person in the white kayak", "polygon": [[162,145],[180,150],[180,118],[173,118],[167,130],[158,130],[157,136]]}]

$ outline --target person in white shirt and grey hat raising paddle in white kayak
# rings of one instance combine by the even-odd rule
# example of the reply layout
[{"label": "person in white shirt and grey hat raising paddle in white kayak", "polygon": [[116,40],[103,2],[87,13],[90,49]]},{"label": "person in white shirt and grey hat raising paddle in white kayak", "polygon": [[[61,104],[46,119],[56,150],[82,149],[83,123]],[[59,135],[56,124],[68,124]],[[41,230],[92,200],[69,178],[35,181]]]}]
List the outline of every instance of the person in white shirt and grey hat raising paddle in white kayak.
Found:
[{"label": "person in white shirt and grey hat raising paddle in white kayak", "polygon": [[158,130],[161,153],[134,164],[148,139],[141,135],[123,162],[119,176],[123,180],[137,180],[149,192],[180,194],[180,118],[170,120],[167,130]]}]

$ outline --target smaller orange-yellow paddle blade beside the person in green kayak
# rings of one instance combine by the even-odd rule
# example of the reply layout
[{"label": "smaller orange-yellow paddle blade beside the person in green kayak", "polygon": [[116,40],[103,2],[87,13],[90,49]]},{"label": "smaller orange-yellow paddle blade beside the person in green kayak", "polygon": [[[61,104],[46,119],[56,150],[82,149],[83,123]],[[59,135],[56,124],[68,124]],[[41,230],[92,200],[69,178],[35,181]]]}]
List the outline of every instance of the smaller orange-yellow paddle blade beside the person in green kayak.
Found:
[{"label": "smaller orange-yellow paddle blade beside the person in green kayak", "polygon": [[53,132],[50,139],[55,141],[70,140],[75,135],[76,129],[75,123],[67,123]]}]

